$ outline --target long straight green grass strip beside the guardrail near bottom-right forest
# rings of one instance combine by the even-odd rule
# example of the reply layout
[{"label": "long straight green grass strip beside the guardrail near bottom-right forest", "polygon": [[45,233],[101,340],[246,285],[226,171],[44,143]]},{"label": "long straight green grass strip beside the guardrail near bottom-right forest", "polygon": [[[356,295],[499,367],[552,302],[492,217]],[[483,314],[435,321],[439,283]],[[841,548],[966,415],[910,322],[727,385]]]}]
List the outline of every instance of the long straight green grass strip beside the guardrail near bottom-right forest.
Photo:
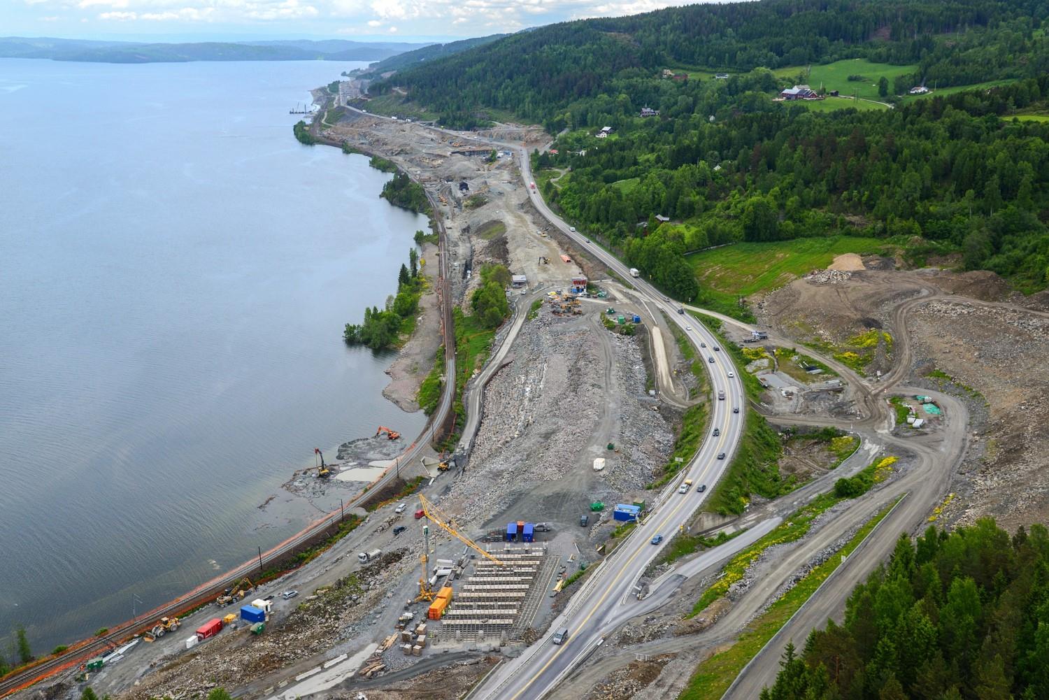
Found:
[{"label": "long straight green grass strip beside the guardrail near bottom-right forest", "polygon": [[747,625],[735,643],[700,663],[683,691],[681,700],[718,700],[721,698],[743,671],[743,667],[783,629],[783,625],[812,597],[816,589],[834,573],[834,570],[841,566],[842,557],[848,557],[856,551],[860,543],[866,539],[866,536],[885,518],[897,503],[899,503],[899,499],[864,523],[834,556],[806,574],[791,590],[769,606],[768,610]]}]

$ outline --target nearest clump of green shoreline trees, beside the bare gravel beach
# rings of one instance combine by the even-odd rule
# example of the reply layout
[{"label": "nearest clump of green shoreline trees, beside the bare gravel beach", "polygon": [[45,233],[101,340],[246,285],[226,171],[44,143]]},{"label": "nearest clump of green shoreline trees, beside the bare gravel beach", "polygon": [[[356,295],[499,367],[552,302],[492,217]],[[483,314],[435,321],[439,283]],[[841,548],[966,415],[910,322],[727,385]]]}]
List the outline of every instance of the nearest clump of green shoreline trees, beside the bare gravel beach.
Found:
[{"label": "nearest clump of green shoreline trees, beside the bare gravel beach", "polygon": [[419,251],[408,250],[409,269],[401,264],[398,275],[397,295],[386,301],[385,309],[378,306],[364,310],[362,323],[347,323],[342,337],[348,345],[367,345],[371,349],[398,346],[402,338],[408,338],[415,330],[415,313],[419,300],[429,282],[419,271]]}]

